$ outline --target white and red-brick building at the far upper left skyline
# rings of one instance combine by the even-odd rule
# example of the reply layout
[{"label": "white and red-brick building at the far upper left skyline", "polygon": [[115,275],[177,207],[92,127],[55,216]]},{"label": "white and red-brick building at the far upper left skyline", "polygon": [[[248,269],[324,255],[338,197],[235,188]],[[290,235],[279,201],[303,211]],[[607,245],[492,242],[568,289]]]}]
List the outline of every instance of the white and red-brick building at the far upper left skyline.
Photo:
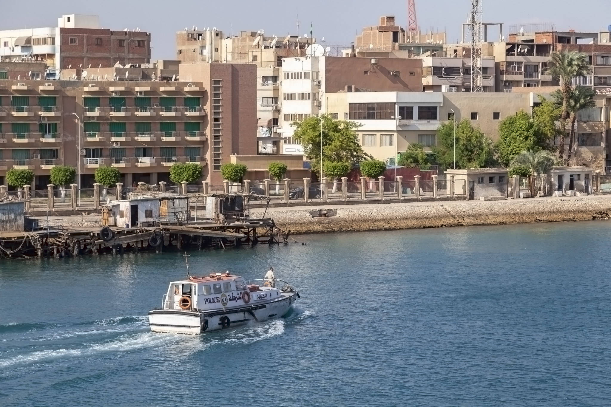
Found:
[{"label": "white and red-brick building at the far upper left skyline", "polygon": [[[57,27],[0,31],[0,62],[43,62],[27,79],[56,79],[59,70],[150,62],[150,34],[100,28],[95,15],[63,15]],[[21,77],[26,79],[26,77]]]}]

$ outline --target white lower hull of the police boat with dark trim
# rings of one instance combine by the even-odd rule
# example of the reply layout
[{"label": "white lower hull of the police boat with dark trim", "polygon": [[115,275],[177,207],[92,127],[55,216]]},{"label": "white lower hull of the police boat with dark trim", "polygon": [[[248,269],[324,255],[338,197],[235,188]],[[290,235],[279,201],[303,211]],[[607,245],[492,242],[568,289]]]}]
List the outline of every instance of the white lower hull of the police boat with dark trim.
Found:
[{"label": "white lower hull of the police boat with dark trim", "polygon": [[279,299],[268,303],[218,311],[153,310],[148,313],[148,324],[151,331],[159,333],[200,334],[217,331],[282,317],[295,303],[297,296],[296,292],[283,293]]}]

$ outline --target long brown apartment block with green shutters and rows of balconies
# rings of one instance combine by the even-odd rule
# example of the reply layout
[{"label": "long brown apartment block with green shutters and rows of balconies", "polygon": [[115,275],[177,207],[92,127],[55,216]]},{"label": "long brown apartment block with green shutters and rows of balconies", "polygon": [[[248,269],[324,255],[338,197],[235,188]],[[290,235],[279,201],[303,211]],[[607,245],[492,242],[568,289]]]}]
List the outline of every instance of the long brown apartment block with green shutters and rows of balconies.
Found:
[{"label": "long brown apartment block with green shutters and rows of balconies", "polygon": [[[197,162],[211,183],[230,155],[254,154],[255,68],[186,64],[184,81],[0,81],[0,184],[10,168],[46,189],[54,165],[79,168],[82,187],[102,166],[122,182],[169,182]],[[213,117],[210,119],[210,115]],[[211,140],[210,140],[211,139]]]}]

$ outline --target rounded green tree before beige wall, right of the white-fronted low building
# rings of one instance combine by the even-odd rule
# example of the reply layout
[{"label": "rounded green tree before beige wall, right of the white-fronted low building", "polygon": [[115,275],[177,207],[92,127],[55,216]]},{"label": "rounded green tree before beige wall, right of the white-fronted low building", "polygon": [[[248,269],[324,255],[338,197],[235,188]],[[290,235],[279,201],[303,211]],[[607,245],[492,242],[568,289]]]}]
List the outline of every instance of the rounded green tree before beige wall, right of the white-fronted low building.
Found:
[{"label": "rounded green tree before beige wall, right of the white-fronted low building", "polygon": [[[433,146],[435,160],[442,170],[453,168],[454,126],[452,121],[442,123],[437,128],[438,145]],[[496,167],[496,151],[492,140],[470,120],[463,119],[456,124],[456,168]]]}]

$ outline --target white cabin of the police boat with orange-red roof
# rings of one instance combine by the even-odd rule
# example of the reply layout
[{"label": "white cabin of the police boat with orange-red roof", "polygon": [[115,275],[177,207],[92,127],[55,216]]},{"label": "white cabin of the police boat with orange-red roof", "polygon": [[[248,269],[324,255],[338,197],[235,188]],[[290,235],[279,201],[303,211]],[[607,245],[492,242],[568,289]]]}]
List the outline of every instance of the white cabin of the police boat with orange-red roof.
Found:
[{"label": "white cabin of the police boat with orange-red roof", "polygon": [[272,280],[263,285],[251,284],[243,277],[227,273],[211,273],[170,283],[163,297],[162,309],[210,311],[214,309],[256,306],[260,301],[280,297],[280,289]]}]

